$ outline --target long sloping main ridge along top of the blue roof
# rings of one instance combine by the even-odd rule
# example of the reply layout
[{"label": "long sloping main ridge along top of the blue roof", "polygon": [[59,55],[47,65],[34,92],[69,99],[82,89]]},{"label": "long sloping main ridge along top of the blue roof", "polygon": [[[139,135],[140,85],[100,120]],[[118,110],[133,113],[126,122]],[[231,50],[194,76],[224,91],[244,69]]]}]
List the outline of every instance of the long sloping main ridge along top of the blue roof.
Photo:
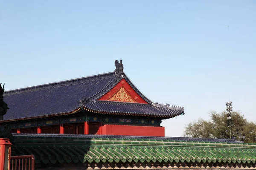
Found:
[{"label": "long sloping main ridge along top of the blue roof", "polygon": [[[104,76],[104,77],[101,77],[101,76]],[[86,82],[88,80],[95,79],[96,77],[105,78],[105,77],[110,77],[110,76],[115,76],[115,72],[112,71],[112,72],[107,72],[107,73],[103,73],[103,74],[95,74],[95,75],[87,76],[87,77],[79,77],[79,78],[75,78],[75,79],[67,79],[67,80],[63,80],[63,81],[51,82],[51,83],[42,84],[42,85],[30,86],[30,87],[26,87],[26,88],[18,88],[18,89],[14,89],[14,90],[10,90],[10,91],[5,91],[3,96],[9,96],[12,94],[42,90],[42,89],[53,88],[53,87],[60,87],[60,86],[64,86],[64,85],[73,85],[73,84],[76,84],[79,82]]]}]

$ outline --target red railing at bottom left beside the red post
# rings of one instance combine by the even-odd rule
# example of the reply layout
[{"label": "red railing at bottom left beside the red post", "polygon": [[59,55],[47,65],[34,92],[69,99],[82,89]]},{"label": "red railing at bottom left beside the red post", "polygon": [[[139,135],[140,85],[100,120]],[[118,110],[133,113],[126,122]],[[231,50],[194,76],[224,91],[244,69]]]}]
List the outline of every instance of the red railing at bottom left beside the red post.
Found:
[{"label": "red railing at bottom left beside the red post", "polygon": [[10,170],[35,170],[35,156],[11,156]]}]

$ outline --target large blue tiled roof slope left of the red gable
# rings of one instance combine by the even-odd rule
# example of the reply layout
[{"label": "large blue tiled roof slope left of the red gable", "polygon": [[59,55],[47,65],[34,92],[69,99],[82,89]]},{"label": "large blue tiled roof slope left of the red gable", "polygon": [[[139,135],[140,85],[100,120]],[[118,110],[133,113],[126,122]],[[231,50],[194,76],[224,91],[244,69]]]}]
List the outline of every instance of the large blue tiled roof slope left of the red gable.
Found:
[{"label": "large blue tiled roof slope left of the red gable", "polygon": [[3,119],[17,119],[72,111],[79,100],[102,90],[115,79],[113,73],[73,79],[15,91],[6,91],[4,100],[9,110]]}]

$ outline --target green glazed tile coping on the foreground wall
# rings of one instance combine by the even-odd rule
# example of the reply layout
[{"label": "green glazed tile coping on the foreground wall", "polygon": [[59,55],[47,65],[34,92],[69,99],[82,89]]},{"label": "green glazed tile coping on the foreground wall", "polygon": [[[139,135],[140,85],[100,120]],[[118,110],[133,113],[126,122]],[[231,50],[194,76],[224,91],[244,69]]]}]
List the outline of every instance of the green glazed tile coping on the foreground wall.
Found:
[{"label": "green glazed tile coping on the foreground wall", "polygon": [[[37,164],[105,162],[198,162],[255,164],[256,144],[181,141],[15,136],[12,155],[33,154]],[[26,143],[30,142],[30,143]]]}]

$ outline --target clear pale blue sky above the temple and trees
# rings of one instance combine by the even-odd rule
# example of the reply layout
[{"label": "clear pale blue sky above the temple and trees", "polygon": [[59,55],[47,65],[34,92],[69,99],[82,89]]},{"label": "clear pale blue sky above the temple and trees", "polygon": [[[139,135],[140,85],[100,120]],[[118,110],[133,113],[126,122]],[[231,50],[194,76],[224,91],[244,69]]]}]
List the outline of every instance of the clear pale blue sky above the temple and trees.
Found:
[{"label": "clear pale blue sky above the temple and trees", "polygon": [[6,90],[113,71],[115,59],[149,99],[185,105],[166,136],[229,96],[256,121],[255,0],[0,0]]}]

